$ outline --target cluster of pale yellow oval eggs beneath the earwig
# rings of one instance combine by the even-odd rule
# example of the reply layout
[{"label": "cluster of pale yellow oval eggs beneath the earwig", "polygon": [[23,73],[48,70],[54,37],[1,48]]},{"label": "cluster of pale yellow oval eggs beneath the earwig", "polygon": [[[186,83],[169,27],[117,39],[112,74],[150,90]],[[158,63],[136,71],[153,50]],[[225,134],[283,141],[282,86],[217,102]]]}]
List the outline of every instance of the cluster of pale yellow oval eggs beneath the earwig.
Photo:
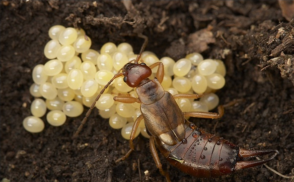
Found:
[{"label": "cluster of pale yellow oval eggs beneath the earwig", "polygon": [[[23,120],[24,128],[31,133],[44,129],[40,119],[46,114],[47,122],[61,126],[66,117],[77,117],[83,112],[83,106],[90,107],[96,96],[113,76],[126,63],[136,59],[133,47],[128,43],[116,46],[104,44],[100,51],[90,49],[91,39],[82,29],[65,28],[55,25],[49,30],[49,41],[44,54],[50,59],[44,65],[36,65],[32,72],[34,83],[30,93],[35,97],[31,104],[31,113]],[[224,86],[225,67],[221,60],[205,59],[199,53],[188,54],[185,58],[174,61],[170,57],[157,56],[144,51],[140,62],[148,66],[155,62],[164,65],[162,86],[171,94],[207,93],[199,100],[178,98],[176,102],[183,112],[205,111],[214,109],[219,104],[219,97],[213,93]],[[151,78],[157,68],[153,68]],[[130,138],[133,124],[141,115],[140,104],[126,104],[113,100],[114,96],[138,97],[134,88],[123,82],[123,77],[115,79],[104,91],[96,107],[103,118],[109,118],[109,125],[122,129],[122,136]],[[42,99],[43,97],[44,99]],[[136,137],[141,133],[149,137],[144,120],[141,121]]]}]

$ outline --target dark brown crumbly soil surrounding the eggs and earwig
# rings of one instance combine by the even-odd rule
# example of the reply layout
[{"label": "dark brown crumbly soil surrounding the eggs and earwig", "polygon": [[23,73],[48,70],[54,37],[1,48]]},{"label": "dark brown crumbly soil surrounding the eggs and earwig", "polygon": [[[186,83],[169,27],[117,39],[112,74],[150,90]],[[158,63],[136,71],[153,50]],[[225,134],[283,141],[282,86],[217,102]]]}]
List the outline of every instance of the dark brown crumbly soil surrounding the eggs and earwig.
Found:
[{"label": "dark brown crumbly soil surrounding the eggs and earwig", "polygon": [[[221,119],[191,121],[244,148],[279,150],[268,165],[293,175],[294,21],[289,22],[293,5],[280,4],[273,0],[137,0],[130,4],[111,0],[1,0],[0,179],[165,181],[144,137],[136,140],[136,151],[127,160],[115,163],[129,150],[128,141],[119,130],[111,129],[97,110],[76,139],[72,136],[86,108],[81,116],[68,118],[61,127],[46,123],[39,134],[23,129],[22,120],[31,115],[34,99],[29,93],[32,69],[47,62],[43,48],[50,40],[49,28],[57,24],[83,28],[96,50],[106,42],[128,42],[138,53],[143,40],[121,33],[143,33],[149,38],[147,50],[158,57],[177,60],[198,51],[205,58],[222,59],[227,68],[226,85],[217,94],[221,104],[238,102],[225,108]],[[42,119],[45,121],[45,117]],[[290,181],[262,166],[217,179],[197,179],[159,157],[172,182]]]}]

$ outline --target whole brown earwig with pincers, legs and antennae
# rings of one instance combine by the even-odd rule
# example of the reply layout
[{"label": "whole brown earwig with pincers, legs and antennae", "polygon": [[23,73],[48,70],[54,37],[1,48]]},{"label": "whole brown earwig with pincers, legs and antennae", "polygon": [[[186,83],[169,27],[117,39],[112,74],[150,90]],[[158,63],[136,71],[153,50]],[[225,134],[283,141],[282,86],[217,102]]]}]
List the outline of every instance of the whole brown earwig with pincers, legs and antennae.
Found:
[{"label": "whole brown earwig with pincers, legs and antennae", "polygon": [[[141,35],[145,42],[136,60],[130,61],[108,82],[104,89],[98,94],[81,125],[74,136],[81,131],[89,117],[91,110],[95,107],[96,101],[110,83],[124,76],[124,82],[128,86],[135,88],[139,98],[131,96],[116,96],[115,101],[123,103],[141,103],[142,115],[139,116],[133,126],[130,136],[131,150],[121,159],[126,159],[134,150],[133,139],[142,119],[145,120],[147,133],[150,135],[149,145],[152,157],[160,173],[170,182],[168,173],[164,172],[159,161],[155,144],[163,156],[175,167],[184,173],[198,178],[213,178],[231,174],[236,170],[249,168],[264,164],[272,160],[279,152],[273,149],[247,150],[239,146],[209,134],[185,117],[217,119],[223,115],[223,106],[218,107],[218,113],[211,112],[185,112],[183,113],[177,105],[175,98],[200,98],[203,94],[176,94],[171,95],[164,91],[161,82],[164,75],[163,64],[154,63],[149,67],[145,63],[139,63],[142,52],[147,45],[147,37]],[[157,68],[156,77],[150,80],[151,69]],[[121,72],[122,71],[122,72]],[[271,157],[262,160],[247,160],[257,156],[274,153]]]}]

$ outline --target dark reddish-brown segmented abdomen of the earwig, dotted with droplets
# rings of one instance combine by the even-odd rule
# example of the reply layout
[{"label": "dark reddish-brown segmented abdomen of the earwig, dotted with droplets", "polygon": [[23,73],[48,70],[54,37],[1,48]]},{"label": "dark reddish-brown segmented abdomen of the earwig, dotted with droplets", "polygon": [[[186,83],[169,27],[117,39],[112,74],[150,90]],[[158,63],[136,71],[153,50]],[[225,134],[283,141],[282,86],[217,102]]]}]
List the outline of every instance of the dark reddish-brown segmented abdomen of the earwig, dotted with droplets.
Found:
[{"label": "dark reddish-brown segmented abdomen of the earwig, dotted with droplets", "polygon": [[156,138],[160,152],[173,166],[198,178],[220,177],[235,170],[239,152],[237,145],[188,121],[184,126],[186,137],[176,145],[169,146]]}]

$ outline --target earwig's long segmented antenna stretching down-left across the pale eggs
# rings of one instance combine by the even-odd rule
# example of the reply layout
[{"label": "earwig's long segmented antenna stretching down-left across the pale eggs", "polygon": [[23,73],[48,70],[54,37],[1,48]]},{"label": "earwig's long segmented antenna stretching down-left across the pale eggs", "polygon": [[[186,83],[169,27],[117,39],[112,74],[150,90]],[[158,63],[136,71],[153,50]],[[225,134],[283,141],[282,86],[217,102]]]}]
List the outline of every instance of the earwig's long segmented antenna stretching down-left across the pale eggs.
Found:
[{"label": "earwig's long segmented antenna stretching down-left across the pale eggs", "polygon": [[84,124],[86,123],[88,117],[90,116],[92,110],[94,109],[95,105],[96,105],[96,102],[99,100],[101,94],[105,91],[105,89],[108,88],[108,86],[111,84],[111,82],[114,81],[114,79],[120,77],[123,75],[123,73],[120,73],[122,69],[120,69],[118,71],[117,74],[115,74],[112,79],[104,86],[104,88],[100,91],[100,93],[97,95],[97,97],[95,98],[95,101],[92,103],[91,107],[89,108],[89,110],[87,111],[86,113],[86,116],[83,118],[83,120],[81,121],[81,124],[79,125],[77,131],[74,133],[74,137],[77,137],[77,135],[79,134],[79,132],[81,131],[82,127],[84,126]]}]

